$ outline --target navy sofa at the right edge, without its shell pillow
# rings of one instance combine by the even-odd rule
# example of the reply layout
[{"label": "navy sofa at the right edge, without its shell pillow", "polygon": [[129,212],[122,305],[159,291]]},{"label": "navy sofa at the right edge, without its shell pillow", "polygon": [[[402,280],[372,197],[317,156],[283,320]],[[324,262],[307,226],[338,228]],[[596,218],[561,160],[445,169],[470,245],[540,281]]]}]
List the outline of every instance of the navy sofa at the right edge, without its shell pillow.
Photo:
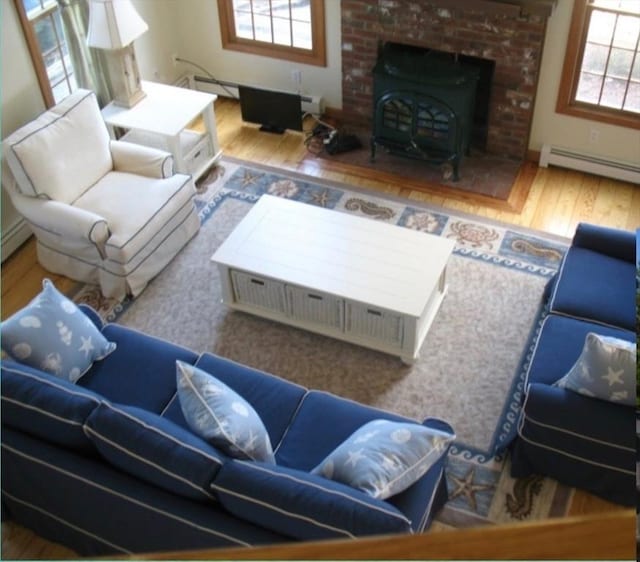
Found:
[{"label": "navy sofa at the right edge, without its shell pillow", "polygon": [[[588,333],[636,342],[635,233],[580,224],[549,286],[527,373],[512,475],[540,473],[635,505],[635,408],[559,388]],[[635,398],[634,398],[635,400]]]}]

